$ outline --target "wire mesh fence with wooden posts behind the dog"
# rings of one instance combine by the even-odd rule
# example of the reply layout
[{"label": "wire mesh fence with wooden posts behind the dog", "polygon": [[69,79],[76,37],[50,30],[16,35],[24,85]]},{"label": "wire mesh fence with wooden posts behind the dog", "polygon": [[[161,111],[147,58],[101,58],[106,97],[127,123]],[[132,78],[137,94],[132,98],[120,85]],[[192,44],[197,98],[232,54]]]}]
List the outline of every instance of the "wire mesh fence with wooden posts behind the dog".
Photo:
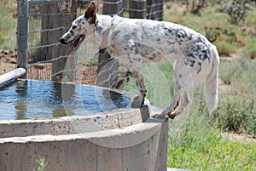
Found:
[{"label": "wire mesh fence with wooden posts behind the dog", "polygon": [[[18,67],[28,79],[113,86],[120,65],[98,48],[85,44],[74,54],[59,43],[72,21],[84,14],[90,0],[18,0]],[[164,0],[97,0],[99,13],[163,20]],[[102,55],[102,56],[101,56]],[[123,68],[123,67],[121,67]],[[103,74],[102,74],[103,73]],[[99,76],[102,74],[102,77]],[[108,83],[106,82],[108,76]],[[105,78],[104,78],[105,77]],[[103,84],[101,84],[103,83]]]}]

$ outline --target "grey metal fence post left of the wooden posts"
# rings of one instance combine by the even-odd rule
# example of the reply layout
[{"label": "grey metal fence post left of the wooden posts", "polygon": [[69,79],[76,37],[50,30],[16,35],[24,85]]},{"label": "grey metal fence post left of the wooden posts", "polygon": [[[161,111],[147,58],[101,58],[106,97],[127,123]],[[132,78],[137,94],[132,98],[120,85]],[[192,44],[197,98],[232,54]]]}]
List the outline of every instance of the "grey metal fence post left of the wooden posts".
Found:
[{"label": "grey metal fence post left of the wooden posts", "polygon": [[[27,41],[28,41],[28,0],[18,0],[18,26],[17,26],[17,67],[26,68],[27,61]],[[23,76],[26,78],[26,75]]]}]

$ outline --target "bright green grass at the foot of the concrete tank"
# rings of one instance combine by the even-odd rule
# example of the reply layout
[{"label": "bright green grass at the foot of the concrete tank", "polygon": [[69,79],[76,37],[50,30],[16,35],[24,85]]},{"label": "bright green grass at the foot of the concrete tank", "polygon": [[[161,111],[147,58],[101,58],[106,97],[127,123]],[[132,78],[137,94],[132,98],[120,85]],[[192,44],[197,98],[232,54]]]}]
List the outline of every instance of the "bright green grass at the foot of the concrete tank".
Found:
[{"label": "bright green grass at the foot of the concrete tank", "polygon": [[168,166],[193,171],[253,171],[255,149],[256,143],[221,138],[206,120],[190,115],[180,132],[170,135]]}]

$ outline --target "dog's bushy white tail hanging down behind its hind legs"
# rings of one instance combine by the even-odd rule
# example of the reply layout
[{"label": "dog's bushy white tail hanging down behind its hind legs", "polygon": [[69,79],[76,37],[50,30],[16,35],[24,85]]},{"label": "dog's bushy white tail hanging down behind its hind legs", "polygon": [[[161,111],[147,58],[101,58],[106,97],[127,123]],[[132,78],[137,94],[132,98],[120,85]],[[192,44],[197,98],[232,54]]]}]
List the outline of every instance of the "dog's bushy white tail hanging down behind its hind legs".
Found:
[{"label": "dog's bushy white tail hanging down behind its hind legs", "polygon": [[218,105],[218,51],[214,47],[212,50],[212,72],[207,77],[204,86],[204,98],[207,102],[209,115],[216,110]]}]

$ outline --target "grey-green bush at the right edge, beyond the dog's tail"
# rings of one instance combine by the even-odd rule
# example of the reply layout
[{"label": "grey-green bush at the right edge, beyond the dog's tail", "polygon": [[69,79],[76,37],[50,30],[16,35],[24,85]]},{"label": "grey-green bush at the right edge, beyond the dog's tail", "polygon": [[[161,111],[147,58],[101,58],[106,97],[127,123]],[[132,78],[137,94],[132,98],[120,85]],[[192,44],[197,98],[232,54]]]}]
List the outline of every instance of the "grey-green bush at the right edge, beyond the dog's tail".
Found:
[{"label": "grey-green bush at the right edge, beyond the dog's tail", "polygon": [[218,110],[212,115],[211,121],[224,131],[256,137],[255,112],[256,106],[250,96],[229,92],[220,96]]}]

